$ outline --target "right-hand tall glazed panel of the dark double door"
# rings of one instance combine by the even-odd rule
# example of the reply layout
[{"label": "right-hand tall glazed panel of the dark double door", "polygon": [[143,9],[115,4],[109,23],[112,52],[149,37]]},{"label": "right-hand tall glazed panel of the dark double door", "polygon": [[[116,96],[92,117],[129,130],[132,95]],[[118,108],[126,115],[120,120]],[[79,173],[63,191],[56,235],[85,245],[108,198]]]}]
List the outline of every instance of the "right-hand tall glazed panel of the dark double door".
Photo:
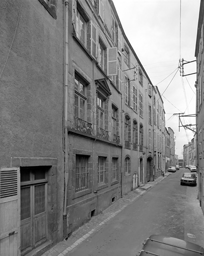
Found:
[{"label": "right-hand tall glazed panel of the dark double door", "polygon": [[34,186],[34,214],[45,211],[45,185]]}]

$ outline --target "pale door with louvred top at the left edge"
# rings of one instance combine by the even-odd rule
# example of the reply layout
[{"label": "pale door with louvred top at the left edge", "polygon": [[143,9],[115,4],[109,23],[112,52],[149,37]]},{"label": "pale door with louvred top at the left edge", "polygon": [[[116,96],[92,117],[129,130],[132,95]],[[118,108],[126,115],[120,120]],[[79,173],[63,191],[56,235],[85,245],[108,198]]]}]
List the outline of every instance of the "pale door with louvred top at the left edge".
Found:
[{"label": "pale door with louvred top at the left edge", "polygon": [[20,255],[19,168],[0,169],[0,255]]}]

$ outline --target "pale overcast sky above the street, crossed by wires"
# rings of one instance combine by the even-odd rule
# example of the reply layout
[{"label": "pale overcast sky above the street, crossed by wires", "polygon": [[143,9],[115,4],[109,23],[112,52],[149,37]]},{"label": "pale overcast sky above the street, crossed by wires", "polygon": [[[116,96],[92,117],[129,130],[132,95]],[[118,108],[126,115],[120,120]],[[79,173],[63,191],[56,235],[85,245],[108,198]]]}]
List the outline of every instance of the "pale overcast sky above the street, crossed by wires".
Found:
[{"label": "pale overcast sky above the street, crossed by wires", "polygon": [[[170,126],[173,129],[176,137],[175,153],[182,158],[183,145],[192,139],[194,133],[184,130],[183,127],[178,131],[178,117],[172,114],[195,113],[196,75],[182,77],[179,70],[176,74],[174,70],[178,67],[180,57],[186,61],[195,59],[200,0],[181,0],[181,40],[180,0],[113,0],[113,2],[124,32],[152,84],[157,85],[162,94],[170,83],[162,95],[166,127]],[[195,62],[184,65],[184,72],[185,74],[196,72]],[[169,75],[170,73],[172,74]],[[181,120],[183,124],[195,124],[195,118],[192,117],[183,117]]]}]

